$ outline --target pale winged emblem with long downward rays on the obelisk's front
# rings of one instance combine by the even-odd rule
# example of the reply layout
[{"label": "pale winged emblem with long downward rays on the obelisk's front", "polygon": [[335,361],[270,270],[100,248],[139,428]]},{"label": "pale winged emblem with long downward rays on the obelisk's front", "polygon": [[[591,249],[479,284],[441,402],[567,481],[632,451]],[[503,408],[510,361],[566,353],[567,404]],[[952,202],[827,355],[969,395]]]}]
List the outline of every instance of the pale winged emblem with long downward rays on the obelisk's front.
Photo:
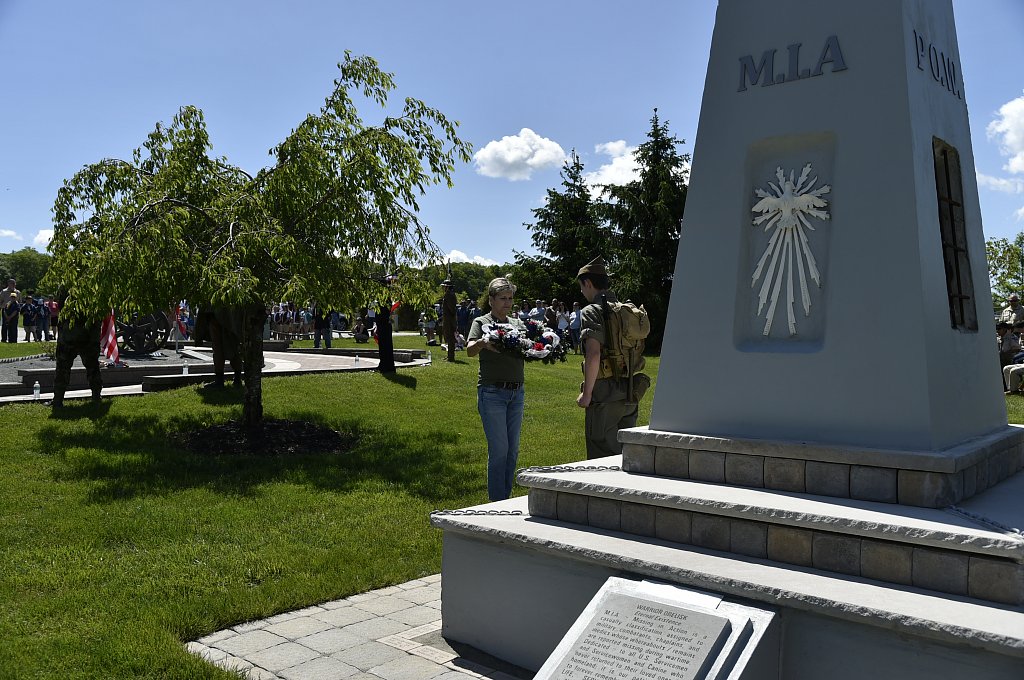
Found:
[{"label": "pale winged emblem with long downward rays on the obelisk's front", "polygon": [[[810,218],[828,219],[828,202],[821,197],[831,190],[831,186],[823,184],[814,188],[818,178],[808,179],[811,174],[811,164],[804,166],[800,179],[794,180],[795,171],[790,171],[788,178],[782,168],[775,169],[778,184],[768,182],[771,190],[754,189],[760,198],[753,208],[754,213],[760,213],[754,218],[754,225],[765,225],[765,231],[774,229],[764,254],[758,260],[758,266],[751,277],[751,288],[758,284],[764,274],[761,291],[758,295],[758,315],[765,310],[764,335],[771,332],[771,324],[775,318],[775,308],[778,306],[782,282],[785,281],[786,312],[790,322],[790,335],[797,335],[797,316],[794,312],[796,302],[794,294],[794,268],[800,282],[800,298],[804,307],[804,315],[811,315],[811,294],[808,291],[807,279],[810,278],[819,288],[821,274],[811,252],[808,231],[814,231]],[[767,268],[765,267],[767,264]]]}]

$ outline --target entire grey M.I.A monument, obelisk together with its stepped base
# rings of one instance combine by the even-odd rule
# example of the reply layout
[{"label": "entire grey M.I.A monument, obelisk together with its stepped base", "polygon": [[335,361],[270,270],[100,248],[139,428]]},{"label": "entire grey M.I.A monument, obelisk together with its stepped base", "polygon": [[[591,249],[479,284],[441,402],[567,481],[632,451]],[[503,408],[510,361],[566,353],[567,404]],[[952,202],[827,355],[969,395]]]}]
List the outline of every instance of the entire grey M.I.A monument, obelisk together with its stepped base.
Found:
[{"label": "entire grey M.I.A monument, obelisk together with its stepped base", "polygon": [[588,603],[653,579],[761,612],[692,677],[1024,677],[969,86],[950,0],[720,0],[650,425],[435,516],[445,636],[585,677]]}]

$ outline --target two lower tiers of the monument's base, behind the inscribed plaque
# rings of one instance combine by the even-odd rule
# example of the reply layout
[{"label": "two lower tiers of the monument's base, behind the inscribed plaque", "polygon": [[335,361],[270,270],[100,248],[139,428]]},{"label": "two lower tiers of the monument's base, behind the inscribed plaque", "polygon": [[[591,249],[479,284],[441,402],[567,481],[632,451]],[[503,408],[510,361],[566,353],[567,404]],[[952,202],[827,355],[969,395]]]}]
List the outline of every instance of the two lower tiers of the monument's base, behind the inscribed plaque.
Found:
[{"label": "two lower tiers of the monument's base, behind the inscribed plaque", "polygon": [[984,522],[1024,474],[954,512],[572,467],[433,516],[445,638],[536,670],[609,577],[653,579],[776,613],[733,680],[1020,677],[1024,539]]}]

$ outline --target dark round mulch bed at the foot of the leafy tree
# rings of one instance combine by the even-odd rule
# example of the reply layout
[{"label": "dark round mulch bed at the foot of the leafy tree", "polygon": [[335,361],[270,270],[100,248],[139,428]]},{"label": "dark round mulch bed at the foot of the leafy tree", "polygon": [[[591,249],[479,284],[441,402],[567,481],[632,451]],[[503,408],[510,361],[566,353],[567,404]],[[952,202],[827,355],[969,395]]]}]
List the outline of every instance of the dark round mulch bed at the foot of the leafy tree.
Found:
[{"label": "dark round mulch bed at the foot of the leafy tree", "polygon": [[355,442],[350,433],[308,421],[270,419],[252,427],[232,420],[202,430],[181,432],[177,438],[195,454],[214,456],[343,454]]}]

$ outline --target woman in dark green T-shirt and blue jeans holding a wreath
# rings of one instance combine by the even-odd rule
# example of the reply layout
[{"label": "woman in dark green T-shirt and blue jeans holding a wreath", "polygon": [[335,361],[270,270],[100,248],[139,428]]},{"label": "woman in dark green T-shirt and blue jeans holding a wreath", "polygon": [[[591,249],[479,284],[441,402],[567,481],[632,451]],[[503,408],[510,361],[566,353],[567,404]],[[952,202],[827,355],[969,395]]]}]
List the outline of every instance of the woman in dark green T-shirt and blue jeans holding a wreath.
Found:
[{"label": "woman in dark green T-shirt and blue jeans holding a wreath", "polygon": [[514,293],[515,286],[508,279],[495,279],[487,285],[490,310],[473,320],[466,345],[467,355],[480,356],[476,409],[487,438],[487,497],[492,501],[504,501],[512,495],[522,427],[524,358],[518,352],[503,350],[486,329],[502,324],[526,332],[518,314],[510,313]]}]

